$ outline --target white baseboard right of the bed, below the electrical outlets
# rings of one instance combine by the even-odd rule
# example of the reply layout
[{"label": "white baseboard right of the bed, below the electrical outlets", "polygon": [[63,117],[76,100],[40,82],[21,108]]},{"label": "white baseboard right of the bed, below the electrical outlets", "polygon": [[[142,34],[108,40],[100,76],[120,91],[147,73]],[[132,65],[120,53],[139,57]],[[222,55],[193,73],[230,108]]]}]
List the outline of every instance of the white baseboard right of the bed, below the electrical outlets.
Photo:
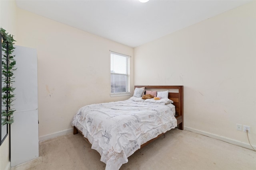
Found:
[{"label": "white baseboard right of the bed, below the electrical outlets", "polygon": [[[224,142],[227,142],[227,143],[231,143],[233,145],[237,145],[237,146],[244,147],[244,148],[252,150],[252,147],[249,144],[243,143],[241,141],[237,141],[237,140],[234,140],[234,139],[222,137],[222,136],[219,136],[219,135],[216,135],[216,134],[208,133],[208,132],[205,132],[205,131],[200,131],[198,129],[193,129],[193,128],[186,127],[186,126],[184,126],[184,130],[191,131],[191,132],[194,132],[194,133],[198,133],[200,135],[208,136],[208,137],[211,137],[213,139],[218,139],[220,141],[224,141]],[[256,146],[254,146],[254,145],[253,145],[253,147],[256,148]]]}]

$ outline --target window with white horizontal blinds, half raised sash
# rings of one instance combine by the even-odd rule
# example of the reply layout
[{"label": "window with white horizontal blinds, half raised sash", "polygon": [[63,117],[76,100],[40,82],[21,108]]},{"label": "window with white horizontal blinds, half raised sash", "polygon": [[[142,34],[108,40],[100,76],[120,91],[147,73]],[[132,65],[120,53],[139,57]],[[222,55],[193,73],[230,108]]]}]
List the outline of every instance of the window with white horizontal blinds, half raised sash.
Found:
[{"label": "window with white horizontal blinds, half raised sash", "polygon": [[111,94],[130,95],[130,56],[110,51]]}]

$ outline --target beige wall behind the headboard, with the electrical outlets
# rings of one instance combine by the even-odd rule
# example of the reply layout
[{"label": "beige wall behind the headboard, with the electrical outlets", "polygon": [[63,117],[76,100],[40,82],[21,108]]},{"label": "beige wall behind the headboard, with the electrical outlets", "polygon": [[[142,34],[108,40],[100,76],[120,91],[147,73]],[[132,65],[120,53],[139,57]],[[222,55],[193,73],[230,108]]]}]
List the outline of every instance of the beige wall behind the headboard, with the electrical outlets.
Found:
[{"label": "beige wall behind the headboard, with the electrical outlets", "polygon": [[134,49],[135,85],[184,85],[184,126],[256,143],[256,2]]}]

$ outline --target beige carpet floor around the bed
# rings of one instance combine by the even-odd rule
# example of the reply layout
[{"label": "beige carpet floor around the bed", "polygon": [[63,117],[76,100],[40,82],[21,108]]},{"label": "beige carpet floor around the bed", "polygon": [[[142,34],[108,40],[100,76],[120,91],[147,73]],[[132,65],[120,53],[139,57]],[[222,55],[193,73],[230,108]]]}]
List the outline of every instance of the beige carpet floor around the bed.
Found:
[{"label": "beige carpet floor around the bed", "polygon": [[[81,134],[40,142],[39,158],[11,170],[104,170],[100,154]],[[120,170],[256,170],[256,152],[172,129],[166,137],[138,150]]]}]

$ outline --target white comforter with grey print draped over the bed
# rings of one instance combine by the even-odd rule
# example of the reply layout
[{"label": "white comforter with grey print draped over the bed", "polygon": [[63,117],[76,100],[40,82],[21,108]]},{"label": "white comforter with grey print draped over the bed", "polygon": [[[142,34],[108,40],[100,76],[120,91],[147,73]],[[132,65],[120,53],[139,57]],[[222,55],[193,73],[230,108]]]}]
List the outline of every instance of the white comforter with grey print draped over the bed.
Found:
[{"label": "white comforter with grey print draped over the bed", "polygon": [[106,170],[118,170],[140,145],[177,127],[172,104],[132,100],[92,104],[79,109],[72,126],[101,155]]}]

